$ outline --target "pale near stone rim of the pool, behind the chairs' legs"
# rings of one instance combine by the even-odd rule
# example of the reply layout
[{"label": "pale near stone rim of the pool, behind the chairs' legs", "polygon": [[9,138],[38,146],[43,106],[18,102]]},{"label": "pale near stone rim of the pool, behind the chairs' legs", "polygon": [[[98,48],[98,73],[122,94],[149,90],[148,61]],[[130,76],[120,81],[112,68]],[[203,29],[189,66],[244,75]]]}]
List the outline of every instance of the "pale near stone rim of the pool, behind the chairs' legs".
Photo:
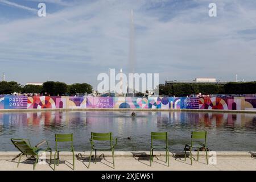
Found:
[{"label": "pale near stone rim of the pool, behind the chairs' legs", "polygon": [[[16,151],[1,151],[0,152],[0,159],[12,159],[15,158],[20,152],[16,152]],[[54,154],[54,151],[52,152]],[[209,152],[208,152],[209,153]],[[47,152],[47,155],[49,154],[49,152]],[[76,151],[75,155],[78,157],[82,157],[82,156],[89,156],[90,151],[86,151],[86,152],[80,152],[80,151]],[[94,152],[93,152],[94,154]],[[104,156],[112,156],[112,152],[109,151],[98,151],[98,156],[100,156],[101,154],[104,154]],[[179,158],[180,155],[183,155],[184,152],[169,152],[169,156],[172,156],[174,158]],[[221,156],[221,157],[236,157],[236,156],[240,156],[240,157],[256,157],[256,152],[254,151],[216,151],[217,156]],[[134,156],[134,157],[138,157],[138,156],[147,156],[150,155],[150,151],[115,151],[114,152],[115,156],[121,156],[121,157],[129,157],[129,156]],[[165,152],[163,151],[154,151],[154,155],[155,156],[165,156]],[[192,155],[197,155],[197,152],[193,151]],[[212,154],[208,154],[209,156]],[[72,158],[72,152],[60,152],[59,156],[62,158]],[[205,156],[205,152],[199,152],[199,156]],[[52,155],[53,157],[53,155]],[[181,157],[182,158],[182,157]]]}]

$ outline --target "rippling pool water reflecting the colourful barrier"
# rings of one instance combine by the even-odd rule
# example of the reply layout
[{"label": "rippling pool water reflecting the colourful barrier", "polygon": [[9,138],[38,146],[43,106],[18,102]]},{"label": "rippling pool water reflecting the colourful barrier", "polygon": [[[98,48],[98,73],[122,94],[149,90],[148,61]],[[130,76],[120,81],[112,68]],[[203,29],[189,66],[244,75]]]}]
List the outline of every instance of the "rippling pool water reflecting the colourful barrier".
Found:
[{"label": "rippling pool water reflecting the colourful barrier", "polygon": [[[10,138],[28,138],[32,145],[55,133],[73,133],[76,151],[90,150],[90,132],[112,131],[116,151],[149,151],[150,132],[167,131],[171,152],[183,151],[191,131],[208,131],[214,151],[256,151],[256,114],[189,111],[38,111],[0,113],[0,151],[17,151]],[[131,139],[127,139],[130,137]]]}]

